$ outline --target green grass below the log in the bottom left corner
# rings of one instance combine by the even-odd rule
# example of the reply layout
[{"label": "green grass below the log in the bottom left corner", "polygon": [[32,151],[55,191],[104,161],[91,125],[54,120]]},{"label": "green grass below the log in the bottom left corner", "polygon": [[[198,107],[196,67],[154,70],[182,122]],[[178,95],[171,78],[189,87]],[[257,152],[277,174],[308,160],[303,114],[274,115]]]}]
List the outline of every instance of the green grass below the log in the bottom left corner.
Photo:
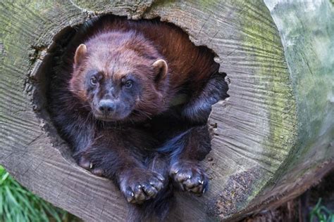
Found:
[{"label": "green grass below the log in the bottom left corner", "polygon": [[0,221],[72,221],[70,214],[58,209],[23,188],[0,166]]}]

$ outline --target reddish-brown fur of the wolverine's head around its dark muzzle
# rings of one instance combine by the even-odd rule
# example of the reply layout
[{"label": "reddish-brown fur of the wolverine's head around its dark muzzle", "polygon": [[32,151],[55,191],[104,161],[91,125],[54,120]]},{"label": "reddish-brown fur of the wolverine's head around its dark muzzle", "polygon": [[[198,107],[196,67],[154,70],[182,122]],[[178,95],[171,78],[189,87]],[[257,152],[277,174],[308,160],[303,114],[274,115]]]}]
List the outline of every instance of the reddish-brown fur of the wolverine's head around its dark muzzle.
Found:
[{"label": "reddish-brown fur of the wolverine's head around its dark muzzle", "polygon": [[[89,91],[87,85],[89,72],[99,73],[101,81],[112,82],[105,86],[105,89],[101,89],[101,98],[104,97],[104,93],[108,93],[109,88],[118,87],[123,79],[129,76],[136,79],[140,89],[136,89],[138,95],[134,94],[136,98],[135,104],[132,105],[134,112],[130,115],[132,119],[156,115],[167,108],[163,97],[168,89],[168,65],[151,42],[141,34],[102,33],[78,46],[75,51],[73,76],[70,79],[70,91],[82,102],[90,103],[94,110],[94,105],[98,102],[93,101],[92,91]],[[120,103],[128,103],[128,100]]]}]

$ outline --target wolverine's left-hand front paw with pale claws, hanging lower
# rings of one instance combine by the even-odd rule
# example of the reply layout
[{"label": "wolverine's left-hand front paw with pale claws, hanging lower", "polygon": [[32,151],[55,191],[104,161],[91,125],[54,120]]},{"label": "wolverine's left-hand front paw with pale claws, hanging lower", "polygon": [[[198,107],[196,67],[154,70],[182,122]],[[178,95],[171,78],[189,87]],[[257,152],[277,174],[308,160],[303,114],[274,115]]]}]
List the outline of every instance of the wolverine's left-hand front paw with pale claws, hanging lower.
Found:
[{"label": "wolverine's left-hand front paw with pale claws, hanging lower", "polygon": [[128,171],[120,177],[120,190],[132,204],[142,204],[156,197],[165,181],[161,174],[145,169]]}]

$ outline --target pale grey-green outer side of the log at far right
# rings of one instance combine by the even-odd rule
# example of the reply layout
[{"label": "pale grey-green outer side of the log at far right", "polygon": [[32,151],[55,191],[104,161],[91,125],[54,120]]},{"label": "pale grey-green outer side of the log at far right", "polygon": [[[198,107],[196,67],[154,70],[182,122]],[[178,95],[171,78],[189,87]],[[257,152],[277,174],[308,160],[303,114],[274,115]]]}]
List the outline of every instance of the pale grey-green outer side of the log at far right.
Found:
[{"label": "pale grey-green outer side of the log at far right", "polygon": [[285,47],[297,103],[298,138],[290,171],[305,159],[334,157],[334,11],[328,1],[277,4],[272,11]]}]

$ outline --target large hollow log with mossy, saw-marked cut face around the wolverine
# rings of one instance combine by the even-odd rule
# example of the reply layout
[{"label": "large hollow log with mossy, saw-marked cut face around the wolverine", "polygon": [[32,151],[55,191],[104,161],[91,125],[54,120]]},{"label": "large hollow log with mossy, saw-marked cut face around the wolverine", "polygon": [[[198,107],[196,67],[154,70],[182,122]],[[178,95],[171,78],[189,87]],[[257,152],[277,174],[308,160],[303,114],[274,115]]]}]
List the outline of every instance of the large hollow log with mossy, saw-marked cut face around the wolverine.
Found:
[{"label": "large hollow log with mossy, saw-marked cut face around the wolverine", "polygon": [[73,162],[45,111],[39,72],[55,39],[101,14],[172,22],[228,74],[230,98],[209,118],[209,192],[177,193],[169,220],[240,218],[333,167],[333,1],[1,1],[0,164],[32,192],[87,221],[127,213],[109,180]]}]

